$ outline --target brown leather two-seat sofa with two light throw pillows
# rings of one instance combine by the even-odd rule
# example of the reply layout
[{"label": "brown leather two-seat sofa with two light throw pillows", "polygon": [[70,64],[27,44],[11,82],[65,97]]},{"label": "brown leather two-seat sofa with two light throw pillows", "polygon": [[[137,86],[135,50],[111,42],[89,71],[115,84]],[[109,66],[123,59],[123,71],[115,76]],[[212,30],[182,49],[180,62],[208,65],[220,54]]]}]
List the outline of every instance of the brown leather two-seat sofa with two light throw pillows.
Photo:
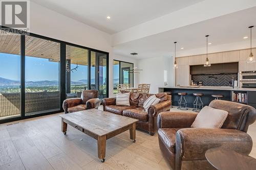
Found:
[{"label": "brown leather two-seat sofa with two light throw pillows", "polygon": [[[127,91],[122,91],[125,93]],[[145,111],[143,108],[144,102],[153,94],[148,93],[130,93],[130,105],[131,106],[117,106],[116,98],[105,98],[102,100],[103,110],[111,113],[136,118],[139,121],[136,123],[136,128],[147,131],[150,135],[154,135],[157,130],[157,115],[160,112],[167,111],[170,109],[171,101],[170,96],[166,93],[158,93],[156,97],[161,99],[156,105],[150,106]]]}]

